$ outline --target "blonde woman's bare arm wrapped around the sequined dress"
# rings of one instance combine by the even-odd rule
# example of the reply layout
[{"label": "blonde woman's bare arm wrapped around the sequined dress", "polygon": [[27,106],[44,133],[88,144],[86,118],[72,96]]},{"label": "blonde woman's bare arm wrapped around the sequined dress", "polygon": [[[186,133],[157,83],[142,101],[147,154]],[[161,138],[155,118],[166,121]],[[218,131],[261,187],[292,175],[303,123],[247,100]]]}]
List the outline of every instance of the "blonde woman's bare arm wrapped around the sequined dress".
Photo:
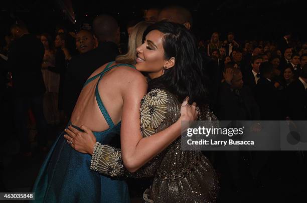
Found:
[{"label": "blonde woman's bare arm wrapped around the sequined dress", "polygon": [[[122,159],[125,167],[130,172],[136,171],[179,137],[182,120],[197,118],[196,104],[186,106],[181,109],[181,117],[173,125],[161,132],[143,138],[139,130],[139,102],[135,101],[137,95],[133,96],[133,94],[127,91],[123,94],[124,102],[120,131]],[[185,104],[187,104],[187,101],[185,101]]]}]

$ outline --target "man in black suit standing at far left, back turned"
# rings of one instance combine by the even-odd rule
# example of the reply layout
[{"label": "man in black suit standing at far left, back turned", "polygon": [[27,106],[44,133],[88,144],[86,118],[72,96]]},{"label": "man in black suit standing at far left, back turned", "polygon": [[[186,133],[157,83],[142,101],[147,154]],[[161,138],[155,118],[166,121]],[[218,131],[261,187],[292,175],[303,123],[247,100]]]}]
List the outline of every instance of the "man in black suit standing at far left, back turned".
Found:
[{"label": "man in black suit standing at far left, back turned", "polygon": [[46,146],[47,122],[43,113],[43,95],[45,84],[41,72],[44,46],[27,26],[19,21],[13,24],[11,32],[15,41],[9,52],[8,68],[12,72],[14,123],[21,139],[22,152],[31,155],[29,132],[27,128],[28,112],[31,108],[40,134],[39,144]]}]

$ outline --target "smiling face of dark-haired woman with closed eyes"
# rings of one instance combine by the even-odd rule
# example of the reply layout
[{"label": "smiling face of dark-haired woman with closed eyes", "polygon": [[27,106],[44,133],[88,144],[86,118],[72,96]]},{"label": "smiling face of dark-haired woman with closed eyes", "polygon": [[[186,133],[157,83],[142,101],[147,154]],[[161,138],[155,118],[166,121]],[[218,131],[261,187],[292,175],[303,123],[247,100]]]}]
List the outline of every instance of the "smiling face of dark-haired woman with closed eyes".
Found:
[{"label": "smiling face of dark-haired woman with closed eyes", "polygon": [[148,72],[152,78],[163,74],[167,63],[164,57],[163,33],[158,30],[150,31],[143,44],[136,48],[137,58],[135,67],[139,71]]}]

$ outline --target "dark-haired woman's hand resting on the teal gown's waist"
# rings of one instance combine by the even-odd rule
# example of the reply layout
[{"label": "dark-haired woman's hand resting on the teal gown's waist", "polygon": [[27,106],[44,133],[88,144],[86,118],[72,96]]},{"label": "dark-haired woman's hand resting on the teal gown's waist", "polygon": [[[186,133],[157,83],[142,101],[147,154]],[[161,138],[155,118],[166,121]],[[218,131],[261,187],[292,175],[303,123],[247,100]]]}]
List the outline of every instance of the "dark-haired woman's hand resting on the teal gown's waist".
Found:
[{"label": "dark-haired woman's hand resting on the teal gown's waist", "polygon": [[67,142],[72,142],[70,145],[76,151],[81,153],[93,153],[94,146],[96,143],[96,137],[94,136],[92,130],[85,125],[80,126],[84,132],[79,131],[78,129],[74,128],[73,126],[68,126],[68,129],[65,129],[67,134],[64,135]]}]

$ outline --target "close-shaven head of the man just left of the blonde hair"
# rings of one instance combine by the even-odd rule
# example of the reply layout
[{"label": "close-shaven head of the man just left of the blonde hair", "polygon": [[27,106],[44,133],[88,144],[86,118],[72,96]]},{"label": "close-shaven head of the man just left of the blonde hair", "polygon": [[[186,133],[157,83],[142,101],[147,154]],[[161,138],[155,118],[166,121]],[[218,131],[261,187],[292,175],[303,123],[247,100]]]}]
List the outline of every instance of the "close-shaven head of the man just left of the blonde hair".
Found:
[{"label": "close-shaven head of the man just left of the blonde hair", "polygon": [[119,43],[119,27],[114,17],[110,15],[99,15],[93,21],[94,34],[98,41],[113,41]]}]

